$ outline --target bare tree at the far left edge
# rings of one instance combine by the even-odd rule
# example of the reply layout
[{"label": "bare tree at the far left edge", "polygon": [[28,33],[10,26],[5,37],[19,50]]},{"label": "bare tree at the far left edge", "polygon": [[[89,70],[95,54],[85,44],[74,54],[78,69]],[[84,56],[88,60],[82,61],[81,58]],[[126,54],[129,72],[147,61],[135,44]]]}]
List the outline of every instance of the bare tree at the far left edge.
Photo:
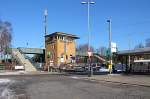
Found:
[{"label": "bare tree at the far left edge", "polygon": [[12,25],[7,21],[0,20],[0,54],[1,58],[3,55],[8,53],[8,49],[11,46],[12,41]]}]

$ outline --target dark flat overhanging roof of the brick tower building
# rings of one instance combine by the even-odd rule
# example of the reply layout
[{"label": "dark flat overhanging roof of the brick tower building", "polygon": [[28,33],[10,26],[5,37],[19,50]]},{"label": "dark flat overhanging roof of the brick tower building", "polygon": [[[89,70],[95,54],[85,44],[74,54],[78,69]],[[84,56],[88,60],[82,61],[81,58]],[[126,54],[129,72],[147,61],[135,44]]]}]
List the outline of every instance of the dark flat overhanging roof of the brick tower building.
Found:
[{"label": "dark flat overhanging roof of the brick tower building", "polygon": [[50,36],[54,36],[54,35],[61,35],[61,36],[71,37],[71,38],[74,38],[74,39],[79,39],[79,37],[77,35],[63,33],[63,32],[54,32],[52,34],[46,35],[45,37],[50,37]]}]

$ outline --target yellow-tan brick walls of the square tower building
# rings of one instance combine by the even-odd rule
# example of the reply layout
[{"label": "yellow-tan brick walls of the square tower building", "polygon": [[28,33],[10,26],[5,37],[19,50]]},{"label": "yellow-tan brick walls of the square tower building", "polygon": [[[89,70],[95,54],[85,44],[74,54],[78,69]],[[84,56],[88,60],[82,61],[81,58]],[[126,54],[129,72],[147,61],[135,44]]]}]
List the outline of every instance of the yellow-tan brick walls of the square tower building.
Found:
[{"label": "yellow-tan brick walls of the square tower building", "polygon": [[[46,65],[50,66],[50,61],[53,61],[53,65],[59,66],[60,64],[70,63],[70,55],[76,55],[76,47],[75,41],[67,41],[65,42],[63,39],[55,39],[53,38],[52,42],[48,39],[46,41]],[[66,47],[65,47],[66,46]],[[66,49],[66,50],[65,50]],[[48,57],[48,52],[51,52],[51,56]]]}]

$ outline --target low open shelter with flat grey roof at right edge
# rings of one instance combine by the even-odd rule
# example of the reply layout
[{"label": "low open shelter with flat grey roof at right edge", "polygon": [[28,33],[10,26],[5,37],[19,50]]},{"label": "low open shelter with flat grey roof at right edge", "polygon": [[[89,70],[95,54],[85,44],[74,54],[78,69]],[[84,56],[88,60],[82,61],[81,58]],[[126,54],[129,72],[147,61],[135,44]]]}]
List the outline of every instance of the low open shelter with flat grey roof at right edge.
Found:
[{"label": "low open shelter with flat grey roof at right edge", "polygon": [[129,72],[150,73],[150,47],[117,52],[117,62],[126,65]]}]

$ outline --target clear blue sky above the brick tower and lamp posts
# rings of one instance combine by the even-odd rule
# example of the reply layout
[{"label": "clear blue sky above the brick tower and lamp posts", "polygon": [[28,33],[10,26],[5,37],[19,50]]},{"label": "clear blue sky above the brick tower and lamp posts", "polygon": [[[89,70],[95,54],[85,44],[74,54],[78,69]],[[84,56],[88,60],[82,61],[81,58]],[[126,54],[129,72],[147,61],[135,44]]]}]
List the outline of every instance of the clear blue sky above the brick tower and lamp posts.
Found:
[{"label": "clear blue sky above the brick tower and lamp posts", "polygon": [[[48,9],[48,32],[73,33],[77,44],[87,43],[86,0],[0,0],[0,19],[13,27],[13,47],[42,47],[44,41],[44,9]],[[112,40],[119,50],[144,43],[150,37],[150,0],[93,0],[91,6],[91,44],[108,46],[108,23],[112,19]]]}]

